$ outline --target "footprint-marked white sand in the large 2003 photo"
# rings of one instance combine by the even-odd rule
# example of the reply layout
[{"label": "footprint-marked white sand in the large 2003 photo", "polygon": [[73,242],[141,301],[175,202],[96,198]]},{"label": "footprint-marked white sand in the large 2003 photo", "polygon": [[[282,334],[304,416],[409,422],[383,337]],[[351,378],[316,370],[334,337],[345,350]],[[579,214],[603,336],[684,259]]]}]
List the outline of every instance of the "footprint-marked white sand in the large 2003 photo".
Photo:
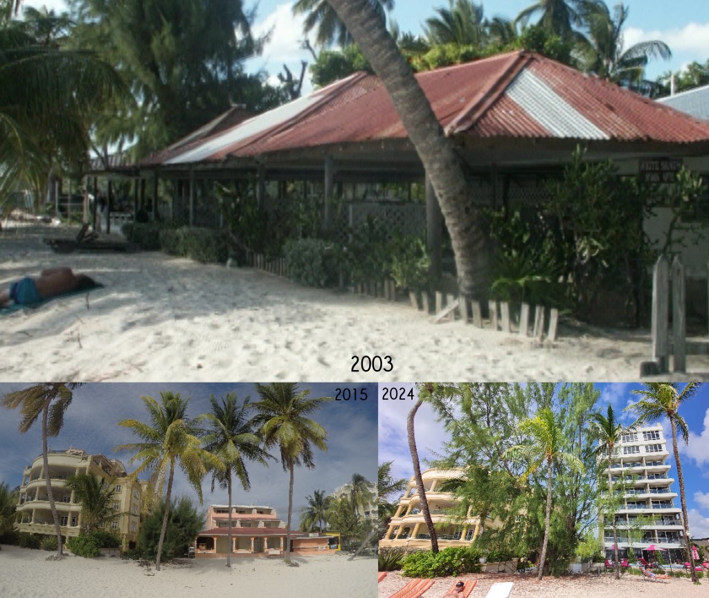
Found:
[{"label": "footprint-marked white sand in the large 2003 photo", "polygon": [[[46,226],[0,233],[2,287],[57,265],[105,284],[0,312],[2,381],[632,381],[650,357],[647,331],[566,325],[556,342],[538,343],[251,268],[157,252],[62,255],[42,241],[74,234]],[[393,370],[354,373],[353,355],[390,355]],[[709,357],[688,366],[683,377],[702,377]]]}]

